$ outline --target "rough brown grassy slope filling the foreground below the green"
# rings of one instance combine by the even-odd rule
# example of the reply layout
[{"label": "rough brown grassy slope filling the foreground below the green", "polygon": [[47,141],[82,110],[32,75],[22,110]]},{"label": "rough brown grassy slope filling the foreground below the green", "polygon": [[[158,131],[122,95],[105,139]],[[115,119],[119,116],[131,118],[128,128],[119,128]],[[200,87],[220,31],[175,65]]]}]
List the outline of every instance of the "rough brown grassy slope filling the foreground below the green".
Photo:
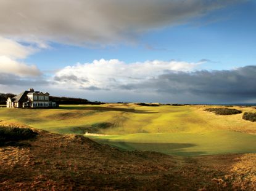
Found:
[{"label": "rough brown grassy slope filling the foreground below the green", "polygon": [[80,135],[35,130],[30,147],[0,147],[0,190],[254,190],[256,155],[128,152]]}]

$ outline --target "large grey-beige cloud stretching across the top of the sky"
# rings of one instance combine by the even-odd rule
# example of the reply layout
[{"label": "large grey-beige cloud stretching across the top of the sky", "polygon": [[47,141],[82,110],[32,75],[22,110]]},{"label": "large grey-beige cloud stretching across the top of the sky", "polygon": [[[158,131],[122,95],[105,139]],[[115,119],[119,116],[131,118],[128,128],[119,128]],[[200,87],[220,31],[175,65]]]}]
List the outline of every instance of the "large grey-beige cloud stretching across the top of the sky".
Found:
[{"label": "large grey-beige cloud stretching across the top of the sky", "polygon": [[[75,45],[131,42],[244,0],[23,0],[0,2],[0,35]],[[7,16],[8,15],[8,16]],[[47,45],[46,45],[47,46]]]}]

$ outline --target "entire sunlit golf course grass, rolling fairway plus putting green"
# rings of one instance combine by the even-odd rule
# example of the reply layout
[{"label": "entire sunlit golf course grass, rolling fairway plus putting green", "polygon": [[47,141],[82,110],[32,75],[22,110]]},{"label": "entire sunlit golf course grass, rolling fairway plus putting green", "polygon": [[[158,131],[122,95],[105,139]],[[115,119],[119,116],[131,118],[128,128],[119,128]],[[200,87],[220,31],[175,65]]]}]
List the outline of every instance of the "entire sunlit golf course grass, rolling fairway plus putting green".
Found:
[{"label": "entire sunlit golf course grass, rolling fairway plus putting green", "polygon": [[[0,108],[0,123],[18,123],[52,133],[108,134],[92,137],[121,149],[202,155],[256,151],[256,122],[242,114],[215,115],[215,106],[103,104],[59,109]],[[233,107],[256,112],[252,107]]]}]

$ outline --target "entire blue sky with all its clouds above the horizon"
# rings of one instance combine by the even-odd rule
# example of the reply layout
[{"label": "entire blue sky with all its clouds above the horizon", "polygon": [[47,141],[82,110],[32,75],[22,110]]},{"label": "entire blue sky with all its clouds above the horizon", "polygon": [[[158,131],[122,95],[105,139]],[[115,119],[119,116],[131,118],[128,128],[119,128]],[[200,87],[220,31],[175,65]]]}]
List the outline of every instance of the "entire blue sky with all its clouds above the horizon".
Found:
[{"label": "entire blue sky with all its clouds above the horizon", "polygon": [[0,93],[256,103],[254,0],[0,0]]}]

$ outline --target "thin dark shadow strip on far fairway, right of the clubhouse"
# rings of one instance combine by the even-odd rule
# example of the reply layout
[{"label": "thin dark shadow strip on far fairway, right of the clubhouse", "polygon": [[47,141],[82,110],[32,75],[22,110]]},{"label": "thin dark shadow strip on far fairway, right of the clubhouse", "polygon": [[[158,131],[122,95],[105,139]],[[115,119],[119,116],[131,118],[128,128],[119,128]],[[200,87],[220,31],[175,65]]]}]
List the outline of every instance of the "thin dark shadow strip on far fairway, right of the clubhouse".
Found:
[{"label": "thin dark shadow strip on far fairway, right of the clubhouse", "polygon": [[122,111],[122,112],[133,112],[136,114],[157,114],[157,112],[136,110],[122,107],[91,107],[91,106],[60,106],[58,109],[76,109],[76,110],[96,110],[96,111]]}]

